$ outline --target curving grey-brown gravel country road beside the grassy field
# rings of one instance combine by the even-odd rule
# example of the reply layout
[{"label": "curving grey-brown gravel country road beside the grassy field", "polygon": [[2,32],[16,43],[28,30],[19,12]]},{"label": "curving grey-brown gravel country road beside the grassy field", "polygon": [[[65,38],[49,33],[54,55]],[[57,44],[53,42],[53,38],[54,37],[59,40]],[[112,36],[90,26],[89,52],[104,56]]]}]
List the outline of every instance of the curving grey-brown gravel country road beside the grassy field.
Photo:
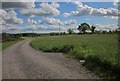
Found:
[{"label": "curving grey-brown gravel country road beside the grassy field", "polygon": [[61,53],[44,53],[21,41],[3,50],[3,79],[96,79],[76,60]]}]

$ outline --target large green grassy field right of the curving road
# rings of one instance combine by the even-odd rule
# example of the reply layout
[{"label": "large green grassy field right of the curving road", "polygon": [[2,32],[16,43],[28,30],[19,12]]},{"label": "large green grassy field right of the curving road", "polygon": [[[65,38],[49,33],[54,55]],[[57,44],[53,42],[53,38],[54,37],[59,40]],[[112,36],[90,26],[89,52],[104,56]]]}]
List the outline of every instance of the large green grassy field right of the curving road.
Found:
[{"label": "large green grassy field right of the curving road", "polygon": [[39,37],[31,45],[45,52],[63,52],[72,58],[84,59],[83,65],[102,77],[119,75],[117,34]]}]

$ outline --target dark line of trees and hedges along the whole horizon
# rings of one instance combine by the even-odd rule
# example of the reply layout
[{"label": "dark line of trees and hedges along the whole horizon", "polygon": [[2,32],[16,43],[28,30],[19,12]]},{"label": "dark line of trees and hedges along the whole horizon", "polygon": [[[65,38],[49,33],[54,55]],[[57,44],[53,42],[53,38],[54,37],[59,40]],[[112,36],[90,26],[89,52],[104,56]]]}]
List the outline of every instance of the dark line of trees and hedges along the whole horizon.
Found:
[{"label": "dark line of trees and hedges along the whole horizon", "polygon": [[[68,35],[68,34],[112,34],[112,33],[120,33],[117,30],[96,30],[95,26],[90,26],[87,23],[81,23],[78,25],[77,30],[79,33],[75,33],[72,28],[69,28],[67,30],[68,33],[66,32],[51,32],[47,34],[39,34],[39,33],[18,33],[18,34],[8,34],[8,33],[2,33],[0,34],[0,41],[5,42],[5,41],[15,41],[21,39],[21,37],[37,37],[37,36],[42,36],[42,35],[50,35],[50,36],[56,36],[56,35]],[[89,32],[88,32],[89,30]]]}]

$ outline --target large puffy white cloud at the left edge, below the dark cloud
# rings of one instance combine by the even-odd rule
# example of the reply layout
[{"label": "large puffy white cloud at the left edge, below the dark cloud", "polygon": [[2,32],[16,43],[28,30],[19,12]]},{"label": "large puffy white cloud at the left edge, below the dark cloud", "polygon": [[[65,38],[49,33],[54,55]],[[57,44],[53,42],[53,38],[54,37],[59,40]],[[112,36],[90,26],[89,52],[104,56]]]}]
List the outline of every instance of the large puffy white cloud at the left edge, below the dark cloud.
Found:
[{"label": "large puffy white cloud at the left edge, below the dark cloud", "polygon": [[15,24],[21,24],[23,20],[17,18],[17,14],[15,11],[6,12],[3,9],[0,9],[0,25],[2,28],[2,32],[8,33],[16,33],[19,31],[19,27]]}]

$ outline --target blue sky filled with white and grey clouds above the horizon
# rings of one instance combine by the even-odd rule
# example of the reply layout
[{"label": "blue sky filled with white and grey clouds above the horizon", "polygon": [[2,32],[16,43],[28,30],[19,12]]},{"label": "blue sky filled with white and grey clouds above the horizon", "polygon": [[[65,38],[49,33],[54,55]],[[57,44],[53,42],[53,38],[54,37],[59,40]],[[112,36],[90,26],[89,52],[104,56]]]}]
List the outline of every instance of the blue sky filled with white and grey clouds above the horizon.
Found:
[{"label": "blue sky filled with white and grey clouds above the horizon", "polygon": [[117,2],[3,2],[0,9],[1,32],[50,33],[78,32],[81,23],[96,30],[115,30],[118,25]]}]

